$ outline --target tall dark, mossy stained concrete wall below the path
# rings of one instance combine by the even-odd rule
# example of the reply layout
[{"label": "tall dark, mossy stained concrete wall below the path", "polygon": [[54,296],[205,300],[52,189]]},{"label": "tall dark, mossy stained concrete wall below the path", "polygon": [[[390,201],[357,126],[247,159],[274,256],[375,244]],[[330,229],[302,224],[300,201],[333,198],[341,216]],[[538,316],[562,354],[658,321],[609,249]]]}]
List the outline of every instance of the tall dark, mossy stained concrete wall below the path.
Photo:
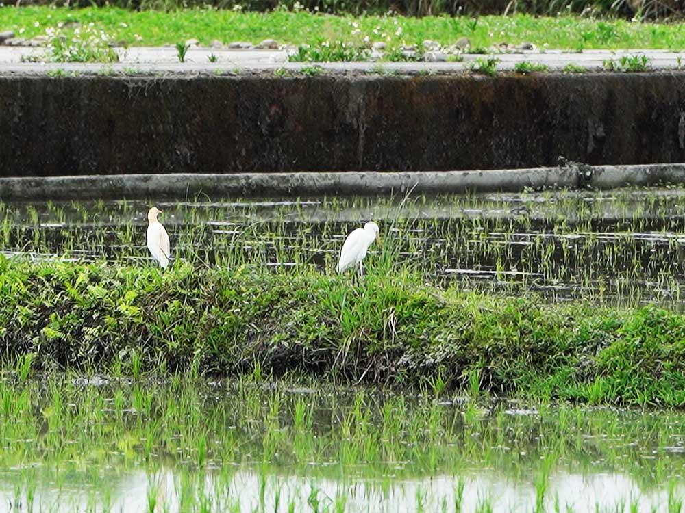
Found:
[{"label": "tall dark, mossy stained concrete wall below the path", "polygon": [[0,77],[0,176],[685,161],[685,73]]}]

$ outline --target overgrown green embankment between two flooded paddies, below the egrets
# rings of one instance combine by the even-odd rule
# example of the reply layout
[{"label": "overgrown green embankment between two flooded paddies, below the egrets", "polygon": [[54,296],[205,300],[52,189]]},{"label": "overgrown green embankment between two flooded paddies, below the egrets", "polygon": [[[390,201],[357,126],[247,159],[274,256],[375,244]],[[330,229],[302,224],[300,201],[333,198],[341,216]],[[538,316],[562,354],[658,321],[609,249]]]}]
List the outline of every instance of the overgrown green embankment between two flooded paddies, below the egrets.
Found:
[{"label": "overgrown green embankment between two flooded paddies, below the egrets", "polygon": [[[685,316],[349,276],[0,262],[5,367],[253,372],[592,404],[685,403]],[[30,356],[28,356],[30,355]]]}]

